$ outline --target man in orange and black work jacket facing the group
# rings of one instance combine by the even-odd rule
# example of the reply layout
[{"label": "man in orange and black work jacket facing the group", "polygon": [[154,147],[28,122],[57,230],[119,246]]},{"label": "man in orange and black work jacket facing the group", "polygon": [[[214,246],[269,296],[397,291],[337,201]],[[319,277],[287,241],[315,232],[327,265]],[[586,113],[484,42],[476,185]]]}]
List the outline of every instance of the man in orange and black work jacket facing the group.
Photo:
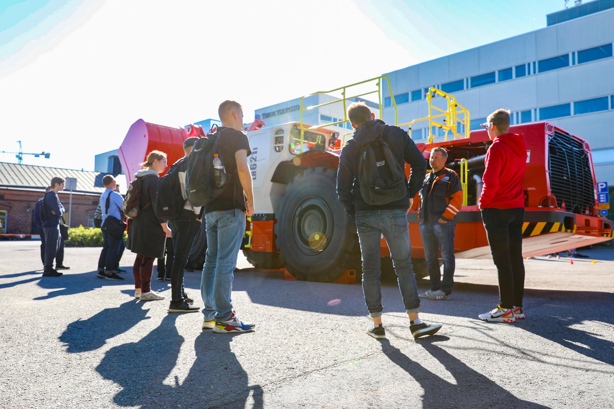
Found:
[{"label": "man in orange and black work jacket facing the group", "polygon": [[[436,147],[430,152],[433,169],[422,183],[422,190],[414,198],[411,209],[419,212],[420,233],[424,258],[430,276],[430,290],[420,298],[449,300],[454,284],[454,216],[462,205],[461,180],[456,172],[445,168],[448,152]],[[443,260],[443,281],[439,270],[439,249]]]}]

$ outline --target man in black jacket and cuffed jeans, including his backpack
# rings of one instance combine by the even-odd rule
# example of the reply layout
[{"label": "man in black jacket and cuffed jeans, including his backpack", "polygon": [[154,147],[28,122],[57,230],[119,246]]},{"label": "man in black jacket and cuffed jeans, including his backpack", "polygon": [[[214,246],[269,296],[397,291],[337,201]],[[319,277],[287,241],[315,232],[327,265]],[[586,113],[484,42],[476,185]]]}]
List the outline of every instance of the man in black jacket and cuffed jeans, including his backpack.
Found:
[{"label": "man in black jacket and cuffed jeans, including his backpack", "polygon": [[[426,160],[406,131],[375,119],[365,103],[352,103],[348,118],[354,134],[341,150],[337,194],[349,216],[356,220],[362,253],[362,289],[373,324],[373,338],[386,338],[382,326],[381,254],[383,236],[388,243],[398,287],[410,317],[414,338],[436,333],[441,324],[420,321],[420,298],[411,265],[407,212],[426,174]],[[411,166],[405,177],[405,162]]]}]

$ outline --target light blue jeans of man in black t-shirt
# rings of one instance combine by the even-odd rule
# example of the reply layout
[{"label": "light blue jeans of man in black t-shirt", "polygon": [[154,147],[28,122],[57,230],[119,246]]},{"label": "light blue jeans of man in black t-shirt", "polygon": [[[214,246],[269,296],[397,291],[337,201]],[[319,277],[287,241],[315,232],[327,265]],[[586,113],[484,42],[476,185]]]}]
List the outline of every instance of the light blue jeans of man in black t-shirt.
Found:
[{"label": "light blue jeans of man in black t-shirt", "polygon": [[227,321],[232,315],[230,293],[245,233],[245,213],[239,209],[215,211],[205,219],[208,247],[200,283],[204,321]]}]

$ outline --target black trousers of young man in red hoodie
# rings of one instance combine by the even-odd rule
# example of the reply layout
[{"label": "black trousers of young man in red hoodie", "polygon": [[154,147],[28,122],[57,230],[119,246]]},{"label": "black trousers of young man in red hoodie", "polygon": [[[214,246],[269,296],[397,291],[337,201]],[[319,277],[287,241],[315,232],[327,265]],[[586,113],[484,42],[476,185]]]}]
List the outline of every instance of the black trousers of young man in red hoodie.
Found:
[{"label": "black trousers of young man in red hoodie", "polygon": [[523,306],[524,208],[482,209],[482,221],[499,276],[499,305]]}]

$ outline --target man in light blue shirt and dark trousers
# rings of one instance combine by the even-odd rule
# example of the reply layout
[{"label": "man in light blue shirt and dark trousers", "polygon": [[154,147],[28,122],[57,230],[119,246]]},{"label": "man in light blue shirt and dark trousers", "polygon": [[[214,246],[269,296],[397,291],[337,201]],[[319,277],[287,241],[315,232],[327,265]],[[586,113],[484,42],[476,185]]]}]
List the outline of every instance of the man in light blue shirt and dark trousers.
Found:
[{"label": "man in light blue shirt and dark trousers", "polygon": [[[115,217],[117,220],[122,220],[122,195],[115,192],[115,177],[107,174],[103,177],[103,184],[106,188],[100,195],[99,205],[103,212],[103,225],[107,217]],[[117,239],[103,232],[103,251],[98,259],[98,278],[107,280],[123,280],[119,276],[119,254],[123,238]]]}]

